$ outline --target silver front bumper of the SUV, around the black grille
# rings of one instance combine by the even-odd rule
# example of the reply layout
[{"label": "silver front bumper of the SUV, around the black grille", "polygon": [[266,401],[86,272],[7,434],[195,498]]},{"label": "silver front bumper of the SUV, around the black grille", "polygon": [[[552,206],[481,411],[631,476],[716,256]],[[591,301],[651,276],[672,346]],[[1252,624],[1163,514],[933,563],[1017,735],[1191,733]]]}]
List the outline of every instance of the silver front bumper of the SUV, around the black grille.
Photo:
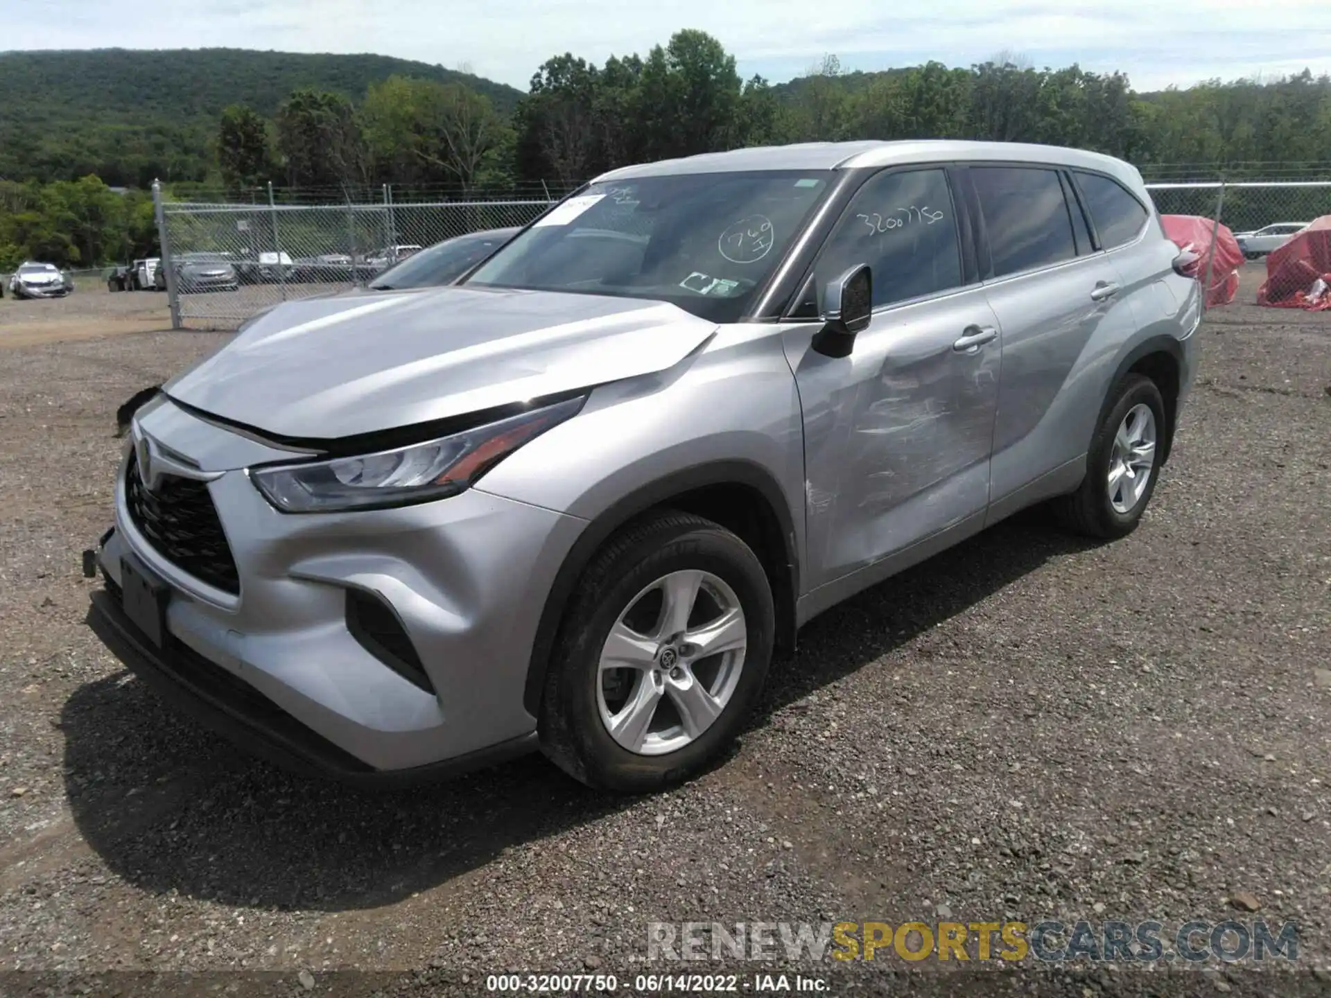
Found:
[{"label": "silver front bumper of the SUV, around the black grille", "polygon": [[[140,426],[216,475],[208,491],[238,592],[160,554],[116,487],[116,527],[95,560],[106,579],[89,623],[158,689],[242,747],[354,781],[413,781],[534,745],[523,705],[546,595],[582,520],[479,490],[402,510],[285,515],[244,468],[273,448],[160,405]],[[137,558],[169,593],[156,647],[120,605]],[[391,608],[430,687],[349,628],[349,593]]]}]

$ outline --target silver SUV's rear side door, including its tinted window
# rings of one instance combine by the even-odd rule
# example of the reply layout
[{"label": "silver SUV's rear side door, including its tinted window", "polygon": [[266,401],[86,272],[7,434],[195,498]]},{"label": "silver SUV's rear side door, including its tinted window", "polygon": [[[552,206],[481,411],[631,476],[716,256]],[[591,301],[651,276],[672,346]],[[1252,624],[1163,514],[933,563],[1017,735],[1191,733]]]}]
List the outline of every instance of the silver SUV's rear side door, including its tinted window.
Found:
[{"label": "silver SUV's rear side door, including its tinted window", "polygon": [[1134,317],[1063,169],[1004,162],[965,173],[1002,343],[993,520],[1081,480],[1102,394],[1086,389],[1095,361],[1131,335]]}]

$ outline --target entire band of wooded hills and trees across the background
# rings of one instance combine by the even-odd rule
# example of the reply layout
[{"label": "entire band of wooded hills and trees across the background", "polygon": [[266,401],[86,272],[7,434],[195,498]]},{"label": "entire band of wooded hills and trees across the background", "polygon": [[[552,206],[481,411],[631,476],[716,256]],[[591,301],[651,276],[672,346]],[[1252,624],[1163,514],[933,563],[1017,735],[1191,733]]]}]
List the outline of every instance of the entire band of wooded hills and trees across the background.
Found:
[{"label": "entire band of wooded hills and trees across the background", "polygon": [[602,65],[555,56],[526,94],[382,56],[4,53],[0,105],[0,269],[146,251],[150,206],[106,185],[153,177],[177,197],[544,194],[628,162],[918,137],[1095,149],[1153,177],[1331,177],[1326,76],[1138,93],[1121,73],[1020,57],[843,73],[829,56],[771,85],[701,31]]}]

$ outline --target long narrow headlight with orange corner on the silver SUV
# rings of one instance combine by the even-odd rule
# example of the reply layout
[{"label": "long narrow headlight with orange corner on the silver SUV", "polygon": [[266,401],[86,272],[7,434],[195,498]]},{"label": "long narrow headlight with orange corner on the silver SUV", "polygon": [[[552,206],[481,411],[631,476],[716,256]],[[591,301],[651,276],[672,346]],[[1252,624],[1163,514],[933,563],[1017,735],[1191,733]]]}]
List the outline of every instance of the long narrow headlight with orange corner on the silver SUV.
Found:
[{"label": "long narrow headlight with orange corner on the silver SUV", "polygon": [[499,460],[576,415],[586,397],[410,447],[281,467],[252,468],[258,491],[282,512],[407,506],[457,495]]}]

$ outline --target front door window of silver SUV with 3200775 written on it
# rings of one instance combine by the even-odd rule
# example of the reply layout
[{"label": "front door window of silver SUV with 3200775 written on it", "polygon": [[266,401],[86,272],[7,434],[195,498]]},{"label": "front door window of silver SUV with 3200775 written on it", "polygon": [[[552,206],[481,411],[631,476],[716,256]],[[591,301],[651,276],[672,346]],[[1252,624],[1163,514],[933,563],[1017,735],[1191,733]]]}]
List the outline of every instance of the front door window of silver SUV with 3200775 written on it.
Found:
[{"label": "front door window of silver SUV with 3200775 written on it", "polygon": [[880,173],[860,188],[823,249],[817,287],[858,263],[873,269],[874,307],[961,286],[957,217],[944,170]]}]

